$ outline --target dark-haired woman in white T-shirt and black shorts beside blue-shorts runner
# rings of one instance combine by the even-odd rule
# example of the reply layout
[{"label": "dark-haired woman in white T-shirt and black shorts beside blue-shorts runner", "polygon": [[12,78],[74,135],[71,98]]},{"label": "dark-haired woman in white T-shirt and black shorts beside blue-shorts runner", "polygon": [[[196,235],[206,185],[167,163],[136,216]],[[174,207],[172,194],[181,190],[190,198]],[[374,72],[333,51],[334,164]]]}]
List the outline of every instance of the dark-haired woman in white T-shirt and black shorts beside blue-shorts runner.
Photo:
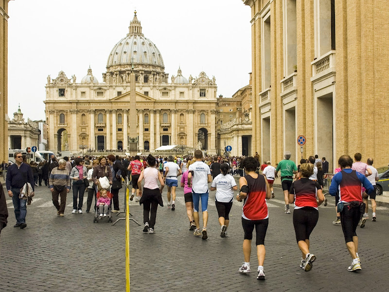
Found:
[{"label": "dark-haired woman in white T-shirt and black shorts beside blue-shorts runner", "polygon": [[226,163],[220,165],[220,174],[217,175],[211,184],[211,191],[216,190],[215,205],[219,215],[220,237],[227,237],[227,228],[230,223],[230,210],[234,191],[238,189],[233,176],[228,174],[230,166]]}]

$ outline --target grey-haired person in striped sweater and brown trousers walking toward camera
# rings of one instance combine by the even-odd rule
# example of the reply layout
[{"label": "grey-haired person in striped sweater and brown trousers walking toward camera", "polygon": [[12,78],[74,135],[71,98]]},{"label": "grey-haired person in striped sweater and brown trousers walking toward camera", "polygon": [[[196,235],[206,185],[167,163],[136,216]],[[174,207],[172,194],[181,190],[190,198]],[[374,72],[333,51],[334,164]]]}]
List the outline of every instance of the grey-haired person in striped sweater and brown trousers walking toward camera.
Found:
[{"label": "grey-haired person in striped sweater and brown trousers walking toward camera", "polygon": [[[58,166],[54,167],[49,178],[50,191],[52,192],[53,205],[57,208],[57,215],[63,217],[66,207],[66,194],[70,190],[70,175],[66,169],[66,161],[60,159]],[[58,195],[61,204],[58,202]]]}]

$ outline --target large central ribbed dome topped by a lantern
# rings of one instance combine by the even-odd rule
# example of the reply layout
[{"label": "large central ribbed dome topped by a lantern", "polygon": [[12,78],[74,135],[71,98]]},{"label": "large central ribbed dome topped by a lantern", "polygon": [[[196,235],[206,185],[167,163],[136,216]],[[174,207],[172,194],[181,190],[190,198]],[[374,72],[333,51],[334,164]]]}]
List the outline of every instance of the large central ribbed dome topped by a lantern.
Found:
[{"label": "large central ribbed dome topped by a lantern", "polygon": [[141,22],[136,11],[129,26],[129,33],[113,47],[106,68],[107,72],[125,69],[133,69],[135,72],[140,70],[164,72],[162,55],[157,46],[142,34]]}]

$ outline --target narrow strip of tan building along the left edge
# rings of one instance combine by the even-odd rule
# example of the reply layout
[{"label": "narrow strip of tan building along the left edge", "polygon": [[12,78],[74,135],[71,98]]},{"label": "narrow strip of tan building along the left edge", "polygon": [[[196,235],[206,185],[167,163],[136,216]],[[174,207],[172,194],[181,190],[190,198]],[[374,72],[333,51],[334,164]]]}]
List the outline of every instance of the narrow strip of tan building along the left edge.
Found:
[{"label": "narrow strip of tan building along the left edge", "polygon": [[8,161],[8,2],[0,0],[0,160]]}]

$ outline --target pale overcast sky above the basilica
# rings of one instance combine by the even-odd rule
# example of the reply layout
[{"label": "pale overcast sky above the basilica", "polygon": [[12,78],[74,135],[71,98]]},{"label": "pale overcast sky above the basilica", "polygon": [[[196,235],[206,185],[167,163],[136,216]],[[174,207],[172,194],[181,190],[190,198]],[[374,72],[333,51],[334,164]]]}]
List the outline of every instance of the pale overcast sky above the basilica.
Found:
[{"label": "pale overcast sky above the basilica", "polygon": [[[169,77],[198,76],[231,97],[251,72],[250,8],[242,0],[15,0],[8,14],[8,115],[45,119],[45,85],[63,70],[77,82],[89,64],[99,82],[114,45],[137,10],[142,33],[161,52]],[[170,78],[169,78],[170,82]]]}]

